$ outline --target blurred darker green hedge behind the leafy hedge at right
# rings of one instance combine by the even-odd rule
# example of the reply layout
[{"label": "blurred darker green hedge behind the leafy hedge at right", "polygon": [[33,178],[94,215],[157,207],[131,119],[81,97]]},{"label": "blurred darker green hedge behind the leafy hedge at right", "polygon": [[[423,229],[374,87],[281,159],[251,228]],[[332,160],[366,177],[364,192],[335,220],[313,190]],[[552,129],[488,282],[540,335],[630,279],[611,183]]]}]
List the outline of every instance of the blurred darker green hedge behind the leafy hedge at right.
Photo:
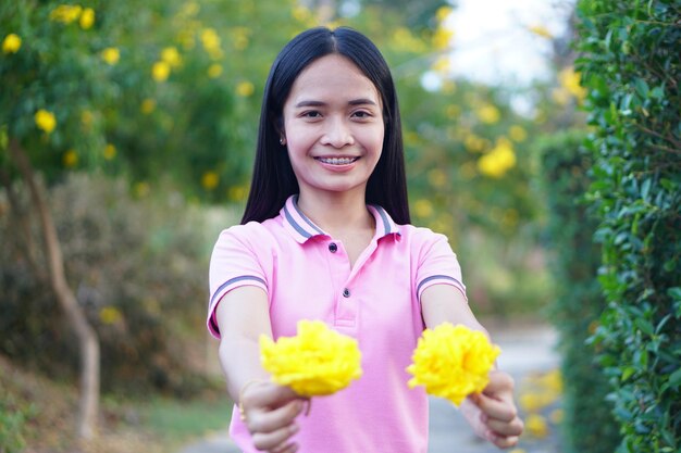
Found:
[{"label": "blurred darker green hedge behind the leafy hedge at right", "polygon": [[[552,272],[557,282],[550,319],[560,332],[566,453],[612,453],[619,443],[607,379],[586,345],[605,307],[596,279],[599,248],[593,241],[597,222],[584,193],[591,156],[584,134],[567,133],[542,142],[544,187],[548,202]],[[589,416],[585,416],[589,414]]]}]

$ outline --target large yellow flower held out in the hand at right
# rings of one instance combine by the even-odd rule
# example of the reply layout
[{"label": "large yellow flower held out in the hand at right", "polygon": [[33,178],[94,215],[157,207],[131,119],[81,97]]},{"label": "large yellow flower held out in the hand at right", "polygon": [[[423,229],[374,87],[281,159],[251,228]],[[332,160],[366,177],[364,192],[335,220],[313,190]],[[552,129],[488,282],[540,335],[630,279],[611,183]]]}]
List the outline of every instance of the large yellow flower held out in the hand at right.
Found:
[{"label": "large yellow flower held out in the hand at right", "polygon": [[410,388],[425,387],[429,394],[445,398],[457,406],[490,382],[490,369],[500,353],[481,331],[444,323],[423,331],[407,372]]}]

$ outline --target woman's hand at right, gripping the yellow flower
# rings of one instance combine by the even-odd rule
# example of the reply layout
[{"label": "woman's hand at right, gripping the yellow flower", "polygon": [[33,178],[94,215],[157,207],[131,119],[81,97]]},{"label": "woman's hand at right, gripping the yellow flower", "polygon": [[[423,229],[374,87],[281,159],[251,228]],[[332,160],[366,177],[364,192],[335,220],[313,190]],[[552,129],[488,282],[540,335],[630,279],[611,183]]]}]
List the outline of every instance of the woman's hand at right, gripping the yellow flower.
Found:
[{"label": "woman's hand at right, gripping the yellow flower", "polygon": [[503,372],[490,373],[482,393],[468,397],[461,413],[478,436],[499,449],[516,446],[523,424],[513,403],[513,378]]}]

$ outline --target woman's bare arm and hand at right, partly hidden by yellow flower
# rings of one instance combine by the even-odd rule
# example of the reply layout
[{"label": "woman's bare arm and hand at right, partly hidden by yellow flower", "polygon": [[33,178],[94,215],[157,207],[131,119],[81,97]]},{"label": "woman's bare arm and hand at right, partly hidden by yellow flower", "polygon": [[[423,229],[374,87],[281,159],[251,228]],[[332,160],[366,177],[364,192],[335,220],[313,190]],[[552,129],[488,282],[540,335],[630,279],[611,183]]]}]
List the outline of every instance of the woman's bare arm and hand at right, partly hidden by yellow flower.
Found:
[{"label": "woman's bare arm and hand at right, partly hidden by yellow flower", "polygon": [[[475,319],[461,291],[449,285],[426,288],[421,294],[421,312],[428,328],[448,322],[487,334]],[[467,398],[461,404],[461,412],[473,430],[495,445],[507,449],[518,443],[523,424],[513,403],[513,379],[507,373],[490,373],[485,390]]]}]

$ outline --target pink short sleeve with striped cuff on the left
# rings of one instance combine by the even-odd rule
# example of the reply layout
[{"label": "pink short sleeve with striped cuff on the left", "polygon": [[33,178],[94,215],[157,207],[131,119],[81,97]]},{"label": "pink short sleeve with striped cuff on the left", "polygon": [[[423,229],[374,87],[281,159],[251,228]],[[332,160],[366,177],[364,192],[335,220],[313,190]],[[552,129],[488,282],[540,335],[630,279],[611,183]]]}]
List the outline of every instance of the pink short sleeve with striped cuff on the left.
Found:
[{"label": "pink short sleeve with striped cuff on the left", "polygon": [[[268,291],[268,281],[260,256],[263,241],[247,234],[248,226],[234,226],[220,234],[210,259],[207,327],[220,338],[215,310],[227,292],[243,286],[256,286]],[[257,238],[256,238],[257,239]],[[258,247],[257,244],[260,244]]]}]

